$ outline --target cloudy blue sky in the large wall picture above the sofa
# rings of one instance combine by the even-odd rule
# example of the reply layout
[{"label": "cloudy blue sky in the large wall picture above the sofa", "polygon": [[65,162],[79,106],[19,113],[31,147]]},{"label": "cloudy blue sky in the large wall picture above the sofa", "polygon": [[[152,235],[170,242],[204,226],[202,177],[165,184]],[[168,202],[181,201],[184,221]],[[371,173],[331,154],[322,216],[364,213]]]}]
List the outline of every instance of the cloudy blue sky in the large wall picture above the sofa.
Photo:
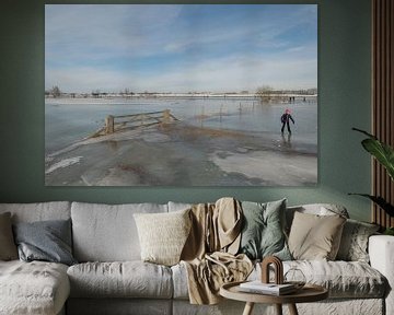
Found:
[{"label": "cloudy blue sky in the large wall picture above the sofa", "polygon": [[45,88],[317,86],[316,4],[46,4]]}]

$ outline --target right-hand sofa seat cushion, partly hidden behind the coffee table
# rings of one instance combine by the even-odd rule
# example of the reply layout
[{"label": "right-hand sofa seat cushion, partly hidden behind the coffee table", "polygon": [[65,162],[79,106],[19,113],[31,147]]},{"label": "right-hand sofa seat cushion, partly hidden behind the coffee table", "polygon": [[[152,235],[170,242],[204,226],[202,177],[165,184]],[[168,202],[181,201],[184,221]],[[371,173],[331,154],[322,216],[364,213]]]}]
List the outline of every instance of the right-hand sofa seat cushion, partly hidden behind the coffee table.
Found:
[{"label": "right-hand sofa seat cushion, partly hidden behind the coffee table", "polygon": [[[283,272],[300,269],[308,283],[326,288],[331,299],[381,299],[387,291],[386,279],[370,265],[361,261],[292,260],[283,261]],[[172,267],[174,299],[188,299],[187,271],[183,264]],[[248,280],[260,279],[256,264]],[[271,275],[274,281],[274,273]]]}]

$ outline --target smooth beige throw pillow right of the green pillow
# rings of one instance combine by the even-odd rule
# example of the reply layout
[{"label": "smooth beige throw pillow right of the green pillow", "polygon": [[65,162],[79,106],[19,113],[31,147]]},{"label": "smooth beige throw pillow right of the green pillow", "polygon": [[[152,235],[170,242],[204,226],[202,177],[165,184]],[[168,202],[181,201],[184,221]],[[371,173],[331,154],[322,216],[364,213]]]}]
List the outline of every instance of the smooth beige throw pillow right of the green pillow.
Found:
[{"label": "smooth beige throw pillow right of the green pillow", "polygon": [[289,249],[294,259],[335,260],[346,219],[340,215],[294,213]]}]

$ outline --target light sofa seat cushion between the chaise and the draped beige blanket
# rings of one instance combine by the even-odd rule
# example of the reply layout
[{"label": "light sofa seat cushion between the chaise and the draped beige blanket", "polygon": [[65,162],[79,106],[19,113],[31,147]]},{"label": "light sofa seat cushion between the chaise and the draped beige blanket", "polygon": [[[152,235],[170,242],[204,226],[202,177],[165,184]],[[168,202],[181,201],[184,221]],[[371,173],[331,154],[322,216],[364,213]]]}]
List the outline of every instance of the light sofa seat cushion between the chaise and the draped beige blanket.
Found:
[{"label": "light sofa seat cushion between the chaise and the draped beige blanket", "polygon": [[171,299],[171,269],[135,261],[84,262],[67,271],[72,298]]}]

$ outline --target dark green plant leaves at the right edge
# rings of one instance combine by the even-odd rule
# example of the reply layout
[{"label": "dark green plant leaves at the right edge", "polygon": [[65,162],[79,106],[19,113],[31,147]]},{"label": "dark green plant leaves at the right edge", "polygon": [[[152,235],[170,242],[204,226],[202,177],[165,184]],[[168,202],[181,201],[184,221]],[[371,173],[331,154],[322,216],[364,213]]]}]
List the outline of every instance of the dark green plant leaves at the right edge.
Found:
[{"label": "dark green plant leaves at the right edge", "polygon": [[[379,163],[381,163],[386,170],[389,176],[394,180],[394,149],[386,143],[380,141],[375,136],[368,133],[364,130],[352,128],[358,132],[361,132],[368,136],[367,139],[361,141],[362,147],[374,156]],[[366,198],[371,199],[380,208],[382,208],[390,217],[394,217],[394,205],[387,202],[381,196],[372,196],[368,194],[350,194],[359,195]],[[387,228],[384,232],[385,234],[394,235],[394,226]]]}]

